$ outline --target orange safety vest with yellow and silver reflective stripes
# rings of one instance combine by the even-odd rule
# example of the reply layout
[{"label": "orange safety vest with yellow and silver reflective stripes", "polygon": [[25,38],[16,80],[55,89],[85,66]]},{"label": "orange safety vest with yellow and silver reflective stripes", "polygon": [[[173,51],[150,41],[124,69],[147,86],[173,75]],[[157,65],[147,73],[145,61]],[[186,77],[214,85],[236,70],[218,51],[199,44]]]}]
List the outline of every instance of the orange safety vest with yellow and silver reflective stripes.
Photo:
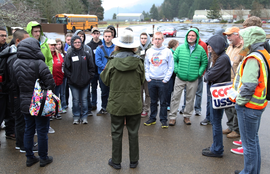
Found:
[{"label": "orange safety vest with yellow and silver reflective stripes", "polygon": [[[264,50],[259,50],[262,54],[264,54],[265,58],[267,60],[270,59],[270,55],[268,52]],[[235,75],[234,82],[232,84],[232,88],[228,92],[228,96],[231,101],[236,102],[236,96],[240,91],[240,87],[242,86],[242,75],[244,66],[248,60],[248,58],[256,58],[260,63],[260,76],[258,81],[260,82],[258,86],[255,88],[255,92],[252,95],[251,99],[248,103],[245,104],[247,108],[252,109],[263,109],[267,105],[266,100],[266,86],[267,86],[267,67],[265,65],[264,59],[262,56],[257,52],[252,52],[249,54],[246,58],[242,60],[242,62],[239,64],[237,68],[237,74]],[[269,62],[270,63],[270,62]]]}]

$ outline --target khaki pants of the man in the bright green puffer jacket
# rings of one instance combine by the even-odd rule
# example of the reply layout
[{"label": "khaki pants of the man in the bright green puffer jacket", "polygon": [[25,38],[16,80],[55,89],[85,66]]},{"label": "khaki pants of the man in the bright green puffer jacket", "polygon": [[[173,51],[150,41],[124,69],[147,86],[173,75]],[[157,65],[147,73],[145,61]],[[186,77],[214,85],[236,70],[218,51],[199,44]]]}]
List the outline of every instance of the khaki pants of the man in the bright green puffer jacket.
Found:
[{"label": "khaki pants of the man in the bright green puffer jacket", "polygon": [[179,108],[182,92],[187,87],[186,106],[183,113],[184,117],[190,117],[194,111],[194,99],[198,87],[198,79],[195,81],[183,81],[178,77],[175,78],[173,97],[171,98],[169,118],[175,120],[177,118],[177,110]]}]

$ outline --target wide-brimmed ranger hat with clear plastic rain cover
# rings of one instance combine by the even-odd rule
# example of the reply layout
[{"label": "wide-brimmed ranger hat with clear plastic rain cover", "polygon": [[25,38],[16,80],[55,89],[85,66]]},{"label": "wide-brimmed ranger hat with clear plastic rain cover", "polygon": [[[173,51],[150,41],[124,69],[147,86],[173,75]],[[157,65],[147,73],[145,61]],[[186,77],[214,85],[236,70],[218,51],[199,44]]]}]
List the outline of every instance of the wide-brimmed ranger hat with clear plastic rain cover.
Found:
[{"label": "wide-brimmed ranger hat with clear plastic rain cover", "polygon": [[120,33],[120,37],[112,39],[114,45],[123,48],[136,48],[140,46],[140,42],[134,40],[133,32],[130,30],[123,30]]}]

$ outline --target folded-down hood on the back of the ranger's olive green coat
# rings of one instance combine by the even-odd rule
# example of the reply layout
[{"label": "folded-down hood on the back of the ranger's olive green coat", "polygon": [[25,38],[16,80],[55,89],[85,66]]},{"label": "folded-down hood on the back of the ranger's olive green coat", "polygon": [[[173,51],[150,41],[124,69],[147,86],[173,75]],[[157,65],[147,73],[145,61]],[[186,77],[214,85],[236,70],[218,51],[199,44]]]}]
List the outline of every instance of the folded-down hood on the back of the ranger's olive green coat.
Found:
[{"label": "folded-down hood on the back of the ranger's olive green coat", "polygon": [[125,49],[116,51],[111,57],[113,66],[119,71],[135,70],[143,60],[139,55]]}]

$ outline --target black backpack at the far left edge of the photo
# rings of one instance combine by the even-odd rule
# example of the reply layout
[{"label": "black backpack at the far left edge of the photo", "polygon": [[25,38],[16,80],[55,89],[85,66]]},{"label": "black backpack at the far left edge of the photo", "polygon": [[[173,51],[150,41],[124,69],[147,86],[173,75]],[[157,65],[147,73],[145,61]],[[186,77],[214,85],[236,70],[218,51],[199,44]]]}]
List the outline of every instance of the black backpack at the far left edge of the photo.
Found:
[{"label": "black backpack at the far left edge of the photo", "polygon": [[8,57],[0,58],[0,93],[8,93],[10,88],[7,60]]}]

